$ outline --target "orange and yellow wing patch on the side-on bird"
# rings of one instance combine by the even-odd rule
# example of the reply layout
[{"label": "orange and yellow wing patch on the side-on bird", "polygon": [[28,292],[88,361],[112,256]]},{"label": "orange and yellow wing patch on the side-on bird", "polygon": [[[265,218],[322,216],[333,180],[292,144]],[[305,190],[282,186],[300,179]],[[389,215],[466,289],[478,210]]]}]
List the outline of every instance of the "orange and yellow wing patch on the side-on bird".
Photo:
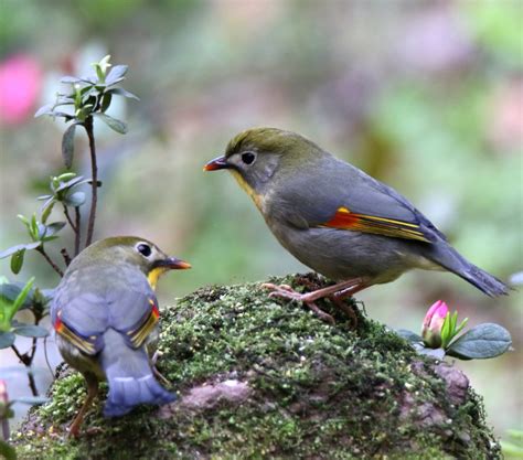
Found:
[{"label": "orange and yellow wing patch on the side-on bird", "polygon": [[394,218],[357,214],[344,206],[339,207],[333,217],[322,224],[322,226],[430,243],[417,224],[396,221]]}]

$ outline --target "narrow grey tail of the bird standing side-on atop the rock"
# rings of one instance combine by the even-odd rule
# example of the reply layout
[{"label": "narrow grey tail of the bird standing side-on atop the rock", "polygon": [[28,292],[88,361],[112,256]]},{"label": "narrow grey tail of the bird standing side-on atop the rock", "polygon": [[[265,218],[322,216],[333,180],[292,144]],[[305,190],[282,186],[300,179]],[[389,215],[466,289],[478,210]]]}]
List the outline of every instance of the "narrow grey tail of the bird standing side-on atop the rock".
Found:
[{"label": "narrow grey tail of the bird standing side-on atop the rock", "polygon": [[447,243],[445,243],[445,246],[441,245],[437,249],[436,253],[433,253],[433,257],[430,257],[433,260],[437,261],[448,270],[453,271],[466,281],[469,281],[487,296],[506,296],[511,290],[511,288],[503,281],[476,265],[472,265]]}]

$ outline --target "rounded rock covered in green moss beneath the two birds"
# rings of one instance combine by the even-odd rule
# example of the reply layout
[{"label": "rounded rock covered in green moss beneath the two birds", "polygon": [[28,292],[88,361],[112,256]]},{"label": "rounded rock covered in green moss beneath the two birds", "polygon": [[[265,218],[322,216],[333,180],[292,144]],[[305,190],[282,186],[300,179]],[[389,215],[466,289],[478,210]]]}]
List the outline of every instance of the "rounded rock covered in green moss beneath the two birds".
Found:
[{"label": "rounded rock covered in green moss beneath the two birds", "polygon": [[329,301],[319,306],[335,325],[269,299],[259,284],[200,289],[162,311],[158,366],[180,394],[175,403],[118,419],[104,419],[97,403],[79,439],[68,439],[85,387],[67,371],[14,434],[19,458],[501,458],[461,372],[417,355],[346,304],[355,329]]}]

